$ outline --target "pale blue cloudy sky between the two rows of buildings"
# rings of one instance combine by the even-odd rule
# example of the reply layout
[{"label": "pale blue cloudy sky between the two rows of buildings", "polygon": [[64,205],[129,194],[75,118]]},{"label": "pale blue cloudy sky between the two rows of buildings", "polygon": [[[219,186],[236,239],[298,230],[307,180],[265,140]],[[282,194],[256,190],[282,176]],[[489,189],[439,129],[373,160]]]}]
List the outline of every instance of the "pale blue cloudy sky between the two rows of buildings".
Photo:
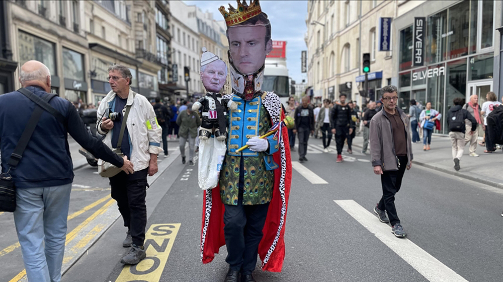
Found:
[{"label": "pale blue cloudy sky between the two rows of buildings", "polygon": [[[196,5],[203,12],[209,11],[213,13],[213,18],[217,21],[223,20],[222,14],[218,11],[220,6],[228,9],[237,8],[235,0],[222,1],[184,1],[187,5]],[[249,3],[246,1],[246,3]],[[296,83],[301,83],[303,79],[307,81],[306,74],[300,72],[300,53],[307,50],[304,42],[304,34],[306,33],[306,14],[307,1],[260,1],[262,11],[265,12],[271,21],[272,39],[279,41],[287,41],[287,67],[290,77]]]}]

